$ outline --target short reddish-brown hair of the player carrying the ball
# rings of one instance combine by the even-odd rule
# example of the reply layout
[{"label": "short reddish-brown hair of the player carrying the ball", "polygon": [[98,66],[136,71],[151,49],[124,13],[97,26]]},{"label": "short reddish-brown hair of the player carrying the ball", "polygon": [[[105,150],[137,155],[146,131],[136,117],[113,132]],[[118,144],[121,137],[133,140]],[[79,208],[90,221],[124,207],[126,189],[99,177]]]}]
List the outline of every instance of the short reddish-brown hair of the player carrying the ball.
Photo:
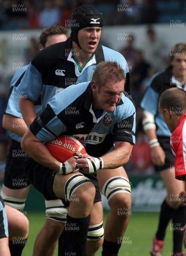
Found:
[{"label": "short reddish-brown hair of the player carrying the ball", "polygon": [[125,82],[124,70],[116,61],[102,61],[95,68],[91,80],[96,81],[100,87],[108,80],[115,83],[122,80]]}]

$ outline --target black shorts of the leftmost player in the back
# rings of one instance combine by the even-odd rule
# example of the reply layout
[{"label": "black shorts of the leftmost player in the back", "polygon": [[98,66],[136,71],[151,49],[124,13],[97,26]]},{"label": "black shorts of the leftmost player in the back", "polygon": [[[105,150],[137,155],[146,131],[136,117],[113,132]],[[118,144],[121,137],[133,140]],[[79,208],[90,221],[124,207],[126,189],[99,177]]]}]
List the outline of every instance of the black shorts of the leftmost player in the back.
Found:
[{"label": "black shorts of the leftmost player in the back", "polygon": [[21,189],[31,184],[24,168],[26,157],[27,155],[20,147],[20,143],[10,140],[3,182],[6,187],[10,189]]}]

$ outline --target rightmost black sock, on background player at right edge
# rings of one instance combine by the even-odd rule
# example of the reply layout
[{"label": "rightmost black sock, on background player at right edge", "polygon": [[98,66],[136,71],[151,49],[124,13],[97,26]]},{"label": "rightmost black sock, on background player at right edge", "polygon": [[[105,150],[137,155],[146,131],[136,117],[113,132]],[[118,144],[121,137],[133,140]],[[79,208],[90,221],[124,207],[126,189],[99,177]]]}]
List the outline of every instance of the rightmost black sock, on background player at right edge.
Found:
[{"label": "rightmost black sock, on background player at right edge", "polygon": [[186,206],[180,206],[177,208],[172,218],[172,227],[174,230],[174,233],[173,233],[173,241],[174,241],[173,252],[174,253],[180,253],[182,251],[184,231],[180,231],[180,228],[183,228],[185,224],[186,224]]}]

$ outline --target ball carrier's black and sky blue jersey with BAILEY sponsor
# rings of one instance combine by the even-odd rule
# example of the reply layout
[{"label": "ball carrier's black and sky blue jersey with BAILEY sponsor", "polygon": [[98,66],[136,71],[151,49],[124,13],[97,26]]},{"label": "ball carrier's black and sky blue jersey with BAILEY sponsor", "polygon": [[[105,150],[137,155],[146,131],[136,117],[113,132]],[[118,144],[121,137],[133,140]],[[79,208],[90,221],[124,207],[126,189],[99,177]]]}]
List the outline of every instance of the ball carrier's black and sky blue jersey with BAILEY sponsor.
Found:
[{"label": "ball carrier's black and sky blue jersey with BAILEY sponsor", "polygon": [[[65,99],[65,100],[63,100]],[[124,94],[112,113],[96,118],[92,109],[90,81],[76,84],[56,94],[29,129],[47,142],[64,134],[78,139],[91,156],[101,156],[113,143],[135,143],[135,107]]]}]

